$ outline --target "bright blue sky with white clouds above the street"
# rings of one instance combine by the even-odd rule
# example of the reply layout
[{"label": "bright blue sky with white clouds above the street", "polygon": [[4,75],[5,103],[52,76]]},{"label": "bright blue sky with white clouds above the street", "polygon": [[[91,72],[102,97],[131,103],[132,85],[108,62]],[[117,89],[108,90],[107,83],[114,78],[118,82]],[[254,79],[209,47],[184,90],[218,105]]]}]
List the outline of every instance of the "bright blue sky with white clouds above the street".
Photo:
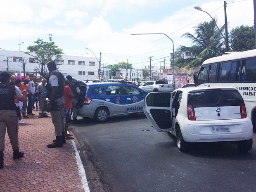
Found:
[{"label": "bright blue sky with white clouds above the street", "polygon": [[[253,0],[226,0],[228,30],[254,25]],[[136,69],[170,59],[171,40],[161,35],[134,36],[131,33],[166,33],[174,42],[190,46],[181,38],[194,26],[211,18],[194,9],[200,6],[224,25],[223,0],[0,0],[0,48],[26,51],[37,38],[48,41],[49,33],[66,55],[97,57],[102,64],[119,61]],[[4,8],[4,9],[3,9]]]}]

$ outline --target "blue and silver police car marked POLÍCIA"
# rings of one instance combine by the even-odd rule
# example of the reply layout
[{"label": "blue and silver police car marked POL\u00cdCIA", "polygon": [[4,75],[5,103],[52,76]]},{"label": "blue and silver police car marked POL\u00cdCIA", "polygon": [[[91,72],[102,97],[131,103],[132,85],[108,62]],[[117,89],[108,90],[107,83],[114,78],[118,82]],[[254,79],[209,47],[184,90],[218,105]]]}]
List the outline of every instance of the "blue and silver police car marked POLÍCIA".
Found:
[{"label": "blue and silver police car marked POL\u00cdCIA", "polygon": [[84,105],[78,116],[94,117],[98,122],[109,116],[143,112],[143,101],[147,92],[126,83],[86,84]]}]

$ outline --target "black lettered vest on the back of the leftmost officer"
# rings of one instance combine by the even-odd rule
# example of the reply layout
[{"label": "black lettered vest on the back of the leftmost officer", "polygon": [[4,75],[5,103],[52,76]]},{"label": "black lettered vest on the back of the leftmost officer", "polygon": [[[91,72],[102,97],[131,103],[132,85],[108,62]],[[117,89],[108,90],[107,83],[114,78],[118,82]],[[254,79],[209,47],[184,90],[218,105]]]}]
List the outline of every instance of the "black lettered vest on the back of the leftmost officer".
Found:
[{"label": "black lettered vest on the back of the leftmost officer", "polygon": [[0,110],[15,110],[17,109],[14,103],[15,87],[0,83]]}]

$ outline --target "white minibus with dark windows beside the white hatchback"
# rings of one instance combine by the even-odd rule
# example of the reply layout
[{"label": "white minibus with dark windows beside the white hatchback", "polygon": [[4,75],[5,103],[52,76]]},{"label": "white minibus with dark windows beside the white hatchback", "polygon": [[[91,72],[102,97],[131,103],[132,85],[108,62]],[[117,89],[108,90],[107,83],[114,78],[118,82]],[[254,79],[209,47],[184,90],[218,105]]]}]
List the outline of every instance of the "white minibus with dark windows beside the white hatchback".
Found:
[{"label": "white minibus with dark windows beside the white hatchback", "polygon": [[196,86],[232,86],[244,98],[251,121],[256,129],[256,49],[244,52],[227,52],[207,59],[201,65]]}]

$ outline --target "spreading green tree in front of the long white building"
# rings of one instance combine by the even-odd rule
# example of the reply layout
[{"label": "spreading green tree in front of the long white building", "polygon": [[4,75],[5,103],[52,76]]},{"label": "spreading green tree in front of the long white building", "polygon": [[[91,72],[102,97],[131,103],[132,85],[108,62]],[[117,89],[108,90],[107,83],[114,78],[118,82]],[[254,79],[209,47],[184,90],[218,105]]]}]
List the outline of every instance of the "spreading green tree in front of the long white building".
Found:
[{"label": "spreading green tree in front of the long white building", "polygon": [[39,67],[35,67],[35,71],[40,73],[41,76],[46,77],[47,75],[47,63],[50,61],[58,63],[58,59],[62,57],[62,49],[59,49],[54,42],[45,42],[42,39],[37,39],[34,43],[36,45],[29,45],[28,51],[24,52],[27,55],[31,55]]}]

